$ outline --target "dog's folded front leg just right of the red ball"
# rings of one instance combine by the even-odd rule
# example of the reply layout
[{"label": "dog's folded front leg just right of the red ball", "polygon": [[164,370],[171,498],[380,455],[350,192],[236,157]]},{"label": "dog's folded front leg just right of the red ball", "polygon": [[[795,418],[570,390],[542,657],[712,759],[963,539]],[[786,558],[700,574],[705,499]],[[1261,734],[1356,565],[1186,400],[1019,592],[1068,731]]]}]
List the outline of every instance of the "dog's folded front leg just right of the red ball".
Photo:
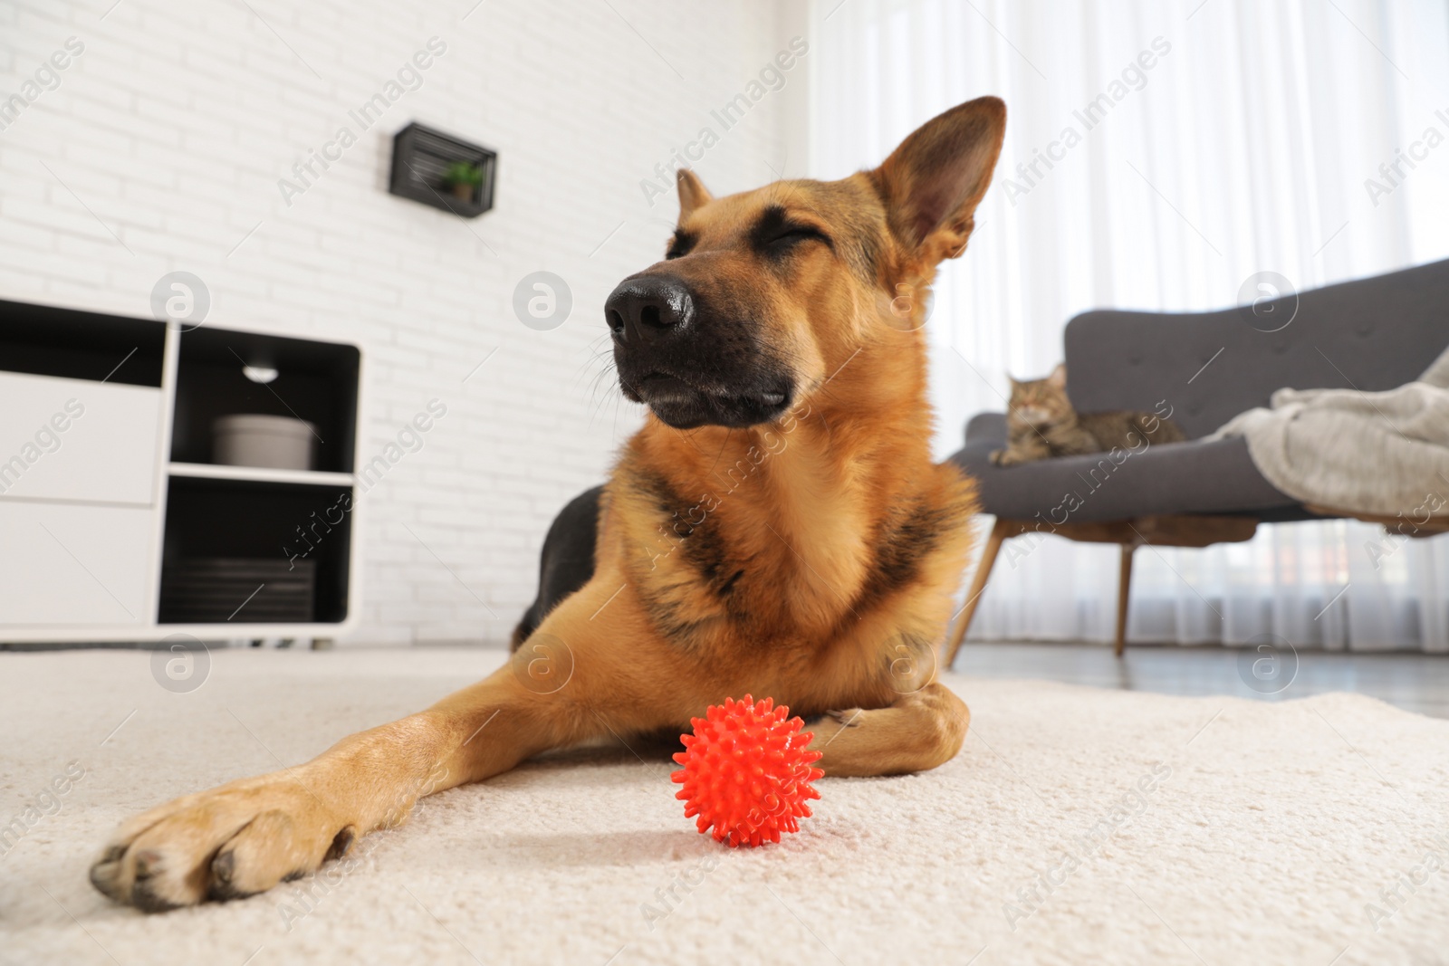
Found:
[{"label": "dog's folded front leg just right of the red ball", "polygon": [[832,711],[809,727],[826,775],[904,775],[945,765],[966,739],[971,711],[946,685],[927,684],[884,708]]}]

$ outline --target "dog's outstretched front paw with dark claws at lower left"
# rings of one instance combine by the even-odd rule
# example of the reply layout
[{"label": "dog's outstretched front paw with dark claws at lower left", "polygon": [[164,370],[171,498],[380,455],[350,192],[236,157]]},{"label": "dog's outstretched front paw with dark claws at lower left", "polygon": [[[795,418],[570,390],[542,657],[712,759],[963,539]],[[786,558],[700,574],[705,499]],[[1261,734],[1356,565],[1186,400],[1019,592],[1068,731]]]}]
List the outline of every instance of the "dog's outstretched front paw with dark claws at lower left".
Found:
[{"label": "dog's outstretched front paw with dark claws at lower left", "polygon": [[312,872],[345,854],[356,827],[307,781],[278,772],[152,808],[116,831],[91,865],[91,885],[159,912],[242,898]]}]

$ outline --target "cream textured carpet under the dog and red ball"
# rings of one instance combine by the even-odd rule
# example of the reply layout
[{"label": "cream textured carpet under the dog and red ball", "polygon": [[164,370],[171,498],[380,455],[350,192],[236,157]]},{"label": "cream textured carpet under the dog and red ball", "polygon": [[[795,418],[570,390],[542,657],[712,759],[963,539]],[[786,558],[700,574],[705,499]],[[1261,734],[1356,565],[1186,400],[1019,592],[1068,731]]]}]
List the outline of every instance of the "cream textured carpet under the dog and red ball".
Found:
[{"label": "cream textured carpet under the dog and red ball", "polygon": [[778,847],[696,834],[671,765],[613,749],[426,799],[251,899],[148,917],[87,883],[130,812],[500,660],[222,650],[174,694],[146,653],[0,655],[0,823],[25,824],[0,856],[0,962],[1449,963],[1449,721],[1345,694],[952,676],[974,714],[953,762],[824,779]]}]

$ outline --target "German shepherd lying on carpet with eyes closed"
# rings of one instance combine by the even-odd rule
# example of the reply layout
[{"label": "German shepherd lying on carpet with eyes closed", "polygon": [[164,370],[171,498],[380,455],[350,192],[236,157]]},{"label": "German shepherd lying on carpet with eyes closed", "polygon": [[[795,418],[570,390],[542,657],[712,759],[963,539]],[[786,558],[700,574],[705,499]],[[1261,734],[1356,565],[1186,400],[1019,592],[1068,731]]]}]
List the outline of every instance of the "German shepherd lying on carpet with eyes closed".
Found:
[{"label": "German shepherd lying on carpet with eyes closed", "polygon": [[597,510],[565,514],[590,565],[551,581],[545,559],[538,626],[491,676],[132,818],[91,866],[96,888],[146,911],[252,895],[422,795],[549,749],[678,734],[746,692],[813,720],[826,775],[955,756],[971,715],[936,681],[935,647],[975,494],[930,459],[922,326],[1004,130],[1006,106],[982,97],[842,181],[714,198],[680,171],[665,261],[604,307],[620,388],[651,411]]}]

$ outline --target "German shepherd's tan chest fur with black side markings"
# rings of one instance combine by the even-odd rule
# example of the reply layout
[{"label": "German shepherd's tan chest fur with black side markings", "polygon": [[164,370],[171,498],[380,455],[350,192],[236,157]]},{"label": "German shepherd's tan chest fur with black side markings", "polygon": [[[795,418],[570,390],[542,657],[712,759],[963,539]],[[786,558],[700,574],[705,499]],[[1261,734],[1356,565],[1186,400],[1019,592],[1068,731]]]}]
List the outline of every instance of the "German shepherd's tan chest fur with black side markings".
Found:
[{"label": "German shepherd's tan chest fur with black side markings", "polygon": [[974,510],[949,471],[882,479],[810,442],[765,437],[704,476],[626,462],[614,498],[652,532],[635,526],[622,550],[661,637],[698,653],[827,646],[920,581]]}]

